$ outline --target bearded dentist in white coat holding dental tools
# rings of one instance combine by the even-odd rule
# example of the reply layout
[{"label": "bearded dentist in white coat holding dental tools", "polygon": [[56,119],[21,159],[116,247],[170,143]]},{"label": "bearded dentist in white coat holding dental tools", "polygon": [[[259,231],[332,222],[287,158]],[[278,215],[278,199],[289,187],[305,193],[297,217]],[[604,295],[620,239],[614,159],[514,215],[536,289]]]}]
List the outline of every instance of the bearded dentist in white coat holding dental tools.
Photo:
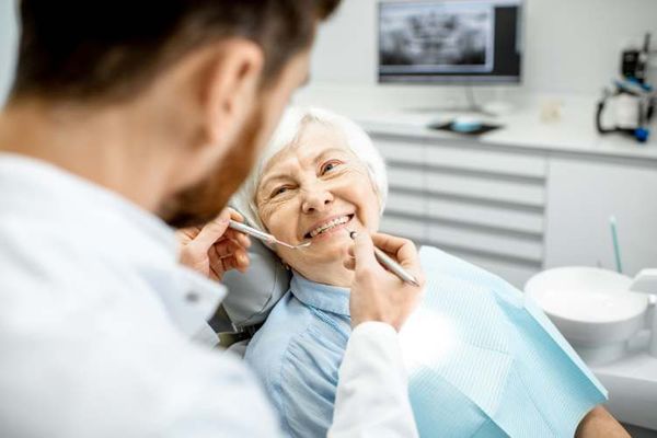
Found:
[{"label": "bearded dentist in white coat holding dental tools", "polygon": [[[0,114],[1,436],[279,436],[250,370],[207,345],[226,293],[207,277],[247,265],[222,209],[337,2],[20,2]],[[169,226],[214,218],[181,253]],[[412,244],[391,251],[420,277]],[[368,237],[354,252],[328,435],[413,437],[396,330],[419,288]]]}]

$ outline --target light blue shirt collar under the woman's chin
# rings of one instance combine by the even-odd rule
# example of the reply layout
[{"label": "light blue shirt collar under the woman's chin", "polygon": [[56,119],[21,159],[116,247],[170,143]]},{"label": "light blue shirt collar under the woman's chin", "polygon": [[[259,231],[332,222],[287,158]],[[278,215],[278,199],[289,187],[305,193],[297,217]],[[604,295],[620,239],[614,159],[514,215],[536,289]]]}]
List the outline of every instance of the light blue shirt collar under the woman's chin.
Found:
[{"label": "light blue shirt collar under the woman's chin", "polygon": [[293,272],[290,290],[307,306],[349,316],[349,289],[347,288],[322,285]]}]

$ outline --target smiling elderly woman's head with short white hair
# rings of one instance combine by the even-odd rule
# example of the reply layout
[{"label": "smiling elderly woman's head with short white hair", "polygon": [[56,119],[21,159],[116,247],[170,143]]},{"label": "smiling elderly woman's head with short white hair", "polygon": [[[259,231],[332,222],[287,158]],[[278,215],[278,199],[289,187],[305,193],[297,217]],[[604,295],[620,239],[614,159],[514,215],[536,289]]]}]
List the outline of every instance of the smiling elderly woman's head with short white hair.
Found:
[{"label": "smiling elderly woman's head with short white hair", "polygon": [[387,194],[383,159],[360,127],[324,110],[290,108],[232,203],[278,239],[312,241],[276,247],[304,277],[349,286],[347,231],[377,231]]}]

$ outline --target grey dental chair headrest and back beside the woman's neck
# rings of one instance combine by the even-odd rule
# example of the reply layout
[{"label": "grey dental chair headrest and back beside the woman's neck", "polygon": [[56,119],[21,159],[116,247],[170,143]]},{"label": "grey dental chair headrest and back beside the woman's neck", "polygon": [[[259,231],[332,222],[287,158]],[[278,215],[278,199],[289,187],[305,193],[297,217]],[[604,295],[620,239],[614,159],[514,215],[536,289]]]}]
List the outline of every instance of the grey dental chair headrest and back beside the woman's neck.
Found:
[{"label": "grey dental chair headrest and back beside the woman's neck", "polygon": [[229,293],[208,321],[219,337],[219,346],[244,356],[246,345],[290,286],[291,273],[278,256],[253,239],[249,249],[251,264],[242,274],[231,270],[223,277]]}]

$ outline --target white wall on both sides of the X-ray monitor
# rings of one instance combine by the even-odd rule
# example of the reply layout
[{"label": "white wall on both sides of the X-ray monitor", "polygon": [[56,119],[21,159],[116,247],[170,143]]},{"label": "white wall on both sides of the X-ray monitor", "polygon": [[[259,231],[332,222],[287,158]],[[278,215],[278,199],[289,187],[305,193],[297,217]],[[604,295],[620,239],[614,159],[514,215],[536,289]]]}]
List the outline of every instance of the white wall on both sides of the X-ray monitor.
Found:
[{"label": "white wall on both sides of the X-ray monitor", "polygon": [[[320,31],[313,80],[376,84],[376,0],[343,0]],[[649,31],[657,48],[657,0],[526,0],[525,14],[528,91],[597,94],[629,41]]]}]

